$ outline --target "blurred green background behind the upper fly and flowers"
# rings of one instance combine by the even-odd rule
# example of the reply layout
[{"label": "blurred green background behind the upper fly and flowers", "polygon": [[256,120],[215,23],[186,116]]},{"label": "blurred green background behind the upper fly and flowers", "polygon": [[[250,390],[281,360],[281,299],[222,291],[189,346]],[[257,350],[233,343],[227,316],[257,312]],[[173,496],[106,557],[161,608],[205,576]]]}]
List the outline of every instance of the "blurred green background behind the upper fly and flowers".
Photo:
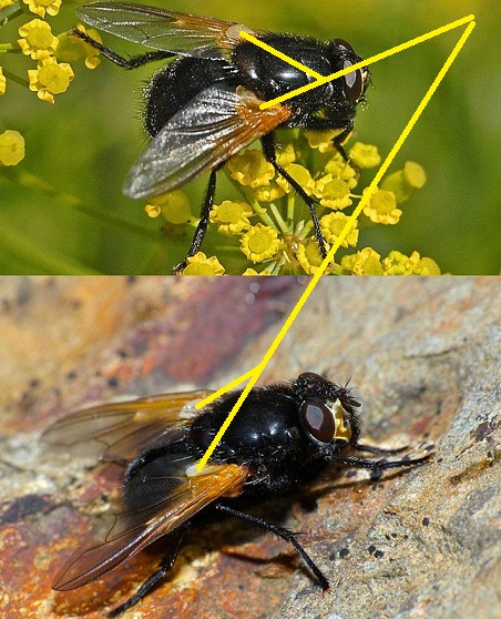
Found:
[{"label": "blurred green background behind the upper fly and flowers", "polygon": [[[143,2],[147,3],[147,2]],[[150,3],[153,3],[151,0]],[[498,274],[501,205],[501,54],[499,0],[168,0],[157,6],[243,22],[256,30],[290,31],[327,40],[342,38],[368,58],[448,22],[474,13],[477,28],[397,155],[391,170],[412,160],[425,166],[426,186],[403,204],[397,226],[364,232],[360,246],[386,255],[418,250],[442,272]],[[63,2],[50,19],[55,34],[76,22]],[[0,29],[1,41],[18,39],[14,20]],[[368,104],[357,114],[357,138],[386,156],[464,27],[371,65]],[[104,34],[119,52],[141,48]],[[28,58],[8,54],[3,67],[24,73]],[[0,99],[0,133],[20,131],[27,141],[22,171],[55,190],[20,186],[0,174],[1,273],[165,273],[185,253],[188,236],[165,240],[160,220],[144,203],[121,194],[125,174],[144,148],[141,89],[157,68],[133,72],[103,59],[94,71],[73,64],[75,79],[55,105],[8,83]],[[217,202],[225,199],[221,175]],[[185,187],[193,210],[206,179]],[[76,209],[75,196],[94,214]],[[113,219],[116,222],[113,223]],[[110,221],[106,221],[110,220]]]}]

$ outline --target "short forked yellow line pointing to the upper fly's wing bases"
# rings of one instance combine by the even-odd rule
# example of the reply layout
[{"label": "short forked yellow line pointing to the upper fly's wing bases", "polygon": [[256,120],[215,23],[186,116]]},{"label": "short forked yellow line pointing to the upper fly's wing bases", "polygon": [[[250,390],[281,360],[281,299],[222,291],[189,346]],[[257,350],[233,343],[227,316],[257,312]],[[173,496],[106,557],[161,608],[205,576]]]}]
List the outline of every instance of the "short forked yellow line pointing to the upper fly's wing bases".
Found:
[{"label": "short forked yellow line pointing to the upper fly's wing bases", "polygon": [[311,83],[306,84],[304,87],[297,88],[296,90],[292,90],[290,92],[286,92],[285,94],[282,94],[280,97],[277,97],[276,99],[270,99],[269,101],[266,101],[265,103],[262,103],[259,105],[259,109],[260,110],[266,110],[267,108],[272,108],[273,105],[276,105],[277,103],[282,103],[283,101],[287,101],[288,99],[293,99],[293,97],[297,97],[298,94],[301,94],[303,92],[307,92],[308,90],[313,90],[314,88],[318,88],[319,85],[323,85],[327,82],[336,80],[337,78],[341,78],[342,75],[347,75],[348,73],[351,73],[351,72],[356,71],[357,69],[362,69],[364,67],[367,67],[368,64],[372,64],[375,62],[378,62],[379,60],[384,60],[385,58],[388,58],[390,55],[393,55],[395,53],[398,53],[398,52],[401,52],[401,51],[407,50],[409,48],[412,48],[413,45],[422,43],[423,41],[428,41],[429,39],[438,37],[439,34],[443,34],[443,32],[448,32],[449,30],[453,30],[454,28],[459,28],[460,26],[463,26],[464,23],[471,22],[473,20],[474,20],[474,16],[467,16],[464,18],[458,19],[456,21],[452,21],[451,23],[442,26],[441,28],[437,28],[436,30],[431,30],[430,32],[427,32],[426,34],[421,34],[420,37],[416,37],[416,39],[411,39],[410,41],[407,41],[407,43],[401,43],[400,45],[396,45],[395,48],[391,48],[391,49],[389,49],[385,52],[378,53],[376,55],[371,55],[367,60],[362,60],[360,62],[351,64],[350,67],[347,67],[346,69],[341,69],[340,71],[336,71],[336,73],[331,73],[330,75],[320,75],[316,71],[313,71],[313,69],[309,69],[309,67],[306,67],[305,64],[298,62],[297,60],[294,60],[294,58],[290,58],[289,55],[286,55],[285,53],[279,52],[278,50],[275,50],[270,45],[264,43],[263,41],[259,41],[259,39],[256,39],[255,37],[249,34],[248,32],[245,32],[244,30],[238,32],[238,34],[243,39],[246,39],[247,41],[254,43],[255,45],[258,45],[259,48],[263,48],[267,52],[273,53],[274,55],[278,57],[279,59],[284,60],[285,62],[288,62],[293,67],[296,67],[296,69],[299,69],[304,73],[307,73],[308,75],[313,75],[314,78],[316,78],[315,82],[311,82]]}]

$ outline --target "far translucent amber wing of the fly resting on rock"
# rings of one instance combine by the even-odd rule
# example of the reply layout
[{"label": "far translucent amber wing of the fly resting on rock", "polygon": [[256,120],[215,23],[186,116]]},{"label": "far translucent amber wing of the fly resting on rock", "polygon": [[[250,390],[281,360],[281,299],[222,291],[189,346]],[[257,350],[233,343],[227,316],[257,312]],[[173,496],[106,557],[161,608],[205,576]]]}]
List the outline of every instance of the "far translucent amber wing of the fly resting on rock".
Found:
[{"label": "far translucent amber wing of the fly resting on rock", "polygon": [[209,394],[184,392],[93,406],[57,422],[42,440],[103,460],[129,460],[145,446],[175,440],[197,415],[195,404]]}]

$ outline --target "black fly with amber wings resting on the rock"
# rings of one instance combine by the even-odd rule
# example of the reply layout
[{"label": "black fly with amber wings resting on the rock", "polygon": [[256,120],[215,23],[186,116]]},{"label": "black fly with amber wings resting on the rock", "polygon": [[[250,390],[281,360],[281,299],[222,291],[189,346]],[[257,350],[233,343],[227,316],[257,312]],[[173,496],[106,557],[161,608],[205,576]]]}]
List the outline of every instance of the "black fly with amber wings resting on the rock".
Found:
[{"label": "black fly with amber wings resting on the rock", "polygon": [[359,443],[360,403],[351,389],[318,374],[287,384],[254,388],[207,465],[196,465],[242,392],[228,393],[200,413],[209,392],[159,395],[104,404],[65,417],[43,439],[70,448],[96,448],[101,460],[124,465],[122,497],[110,521],[79,548],[53,588],[68,591],[113,570],[162,536],[172,549],[157,571],[123,605],[137,603],[171,569],[195,515],[218,511],[243,518],[292,544],[319,586],[329,581],[294,532],[241,511],[242,504],[292,490],[314,479],[330,463],[380,474],[420,465],[429,456],[395,461],[346,455],[359,450],[393,454]]}]

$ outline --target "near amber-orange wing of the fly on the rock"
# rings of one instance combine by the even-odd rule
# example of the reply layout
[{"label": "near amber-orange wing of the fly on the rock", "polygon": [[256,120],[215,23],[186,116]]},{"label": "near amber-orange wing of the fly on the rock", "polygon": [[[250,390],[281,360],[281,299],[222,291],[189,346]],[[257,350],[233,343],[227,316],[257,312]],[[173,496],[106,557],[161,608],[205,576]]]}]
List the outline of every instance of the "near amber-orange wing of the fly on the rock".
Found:
[{"label": "near amber-orange wing of the fly on the rock", "polygon": [[141,494],[135,496],[132,490],[135,508],[129,505],[127,510],[113,514],[101,530],[101,539],[93,536],[84,550],[70,558],[53,588],[68,591],[108,574],[212,501],[238,494],[249,475],[245,466],[233,464],[209,465],[200,474],[194,465],[193,458],[181,453],[142,467],[137,474]]}]

